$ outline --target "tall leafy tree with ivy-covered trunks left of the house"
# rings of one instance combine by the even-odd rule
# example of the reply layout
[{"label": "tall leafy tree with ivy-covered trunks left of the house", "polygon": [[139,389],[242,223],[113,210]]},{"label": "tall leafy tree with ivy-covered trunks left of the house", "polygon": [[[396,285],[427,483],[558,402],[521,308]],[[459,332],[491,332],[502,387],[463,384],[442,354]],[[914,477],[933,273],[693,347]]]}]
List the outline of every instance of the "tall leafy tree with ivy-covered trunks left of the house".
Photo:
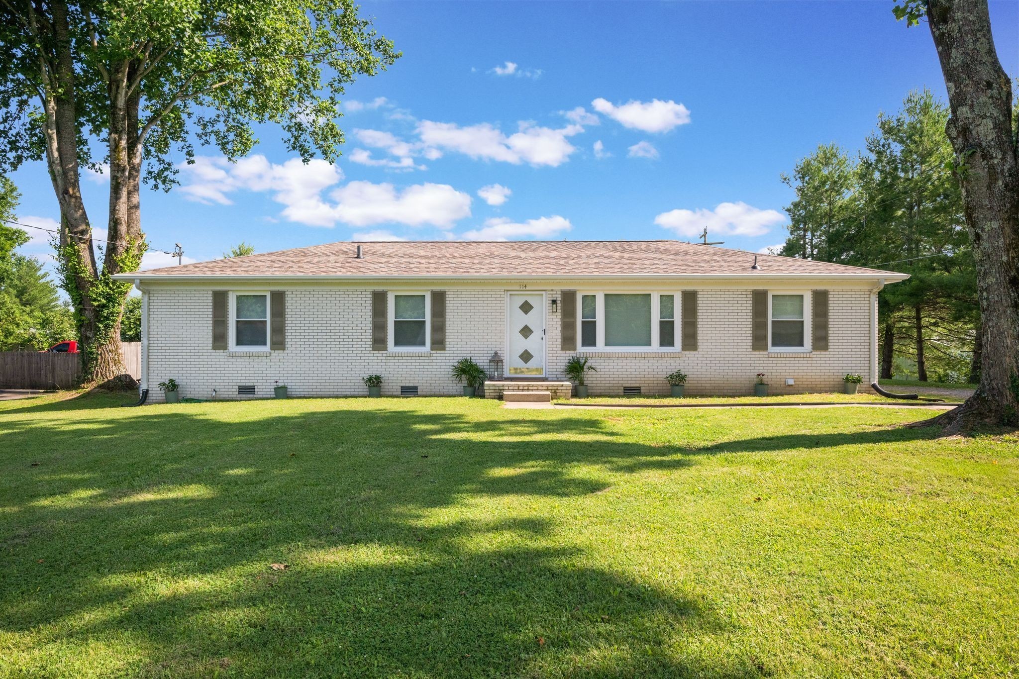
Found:
[{"label": "tall leafy tree with ivy-covered trunks left of the house", "polygon": [[[44,160],[60,209],[58,260],[85,377],[124,373],[120,314],[146,249],[141,182],[168,188],[195,145],[248,154],[274,123],[287,149],[333,161],[339,96],[399,55],[351,0],[4,0],[0,172]],[[102,155],[94,155],[94,149]],[[109,165],[109,242],[97,262],[81,168]]]}]

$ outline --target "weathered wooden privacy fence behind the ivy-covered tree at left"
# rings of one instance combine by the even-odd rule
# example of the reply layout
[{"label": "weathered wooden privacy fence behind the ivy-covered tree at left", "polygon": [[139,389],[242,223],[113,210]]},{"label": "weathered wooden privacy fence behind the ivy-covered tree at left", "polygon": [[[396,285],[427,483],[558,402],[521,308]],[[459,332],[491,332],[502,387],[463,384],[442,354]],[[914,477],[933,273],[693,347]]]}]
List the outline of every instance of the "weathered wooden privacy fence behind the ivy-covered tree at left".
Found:
[{"label": "weathered wooden privacy fence behind the ivy-covered tree at left", "polygon": [[[127,373],[142,377],[142,343],[121,342]],[[0,389],[70,389],[82,374],[78,353],[0,351]]]}]

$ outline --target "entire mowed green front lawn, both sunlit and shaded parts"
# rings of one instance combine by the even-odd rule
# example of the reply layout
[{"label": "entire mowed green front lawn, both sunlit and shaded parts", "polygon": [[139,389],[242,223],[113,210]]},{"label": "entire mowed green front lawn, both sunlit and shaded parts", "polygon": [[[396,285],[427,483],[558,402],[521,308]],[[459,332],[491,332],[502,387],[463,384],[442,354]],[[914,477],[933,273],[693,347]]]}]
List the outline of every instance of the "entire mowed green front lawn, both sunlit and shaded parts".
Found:
[{"label": "entire mowed green front lawn, both sunlit and shaded parts", "polygon": [[1014,435],[121,400],[0,403],[3,676],[1017,672]]}]

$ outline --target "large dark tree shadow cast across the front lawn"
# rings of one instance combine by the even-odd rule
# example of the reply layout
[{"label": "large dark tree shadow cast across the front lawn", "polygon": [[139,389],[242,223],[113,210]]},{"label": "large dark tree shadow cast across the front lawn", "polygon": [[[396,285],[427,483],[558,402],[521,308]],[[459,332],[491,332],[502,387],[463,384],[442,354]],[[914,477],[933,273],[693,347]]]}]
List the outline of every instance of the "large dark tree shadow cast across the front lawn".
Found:
[{"label": "large dark tree shadow cast across the front lawn", "polygon": [[36,669],[126,638],[143,660],[111,669],[140,675],[754,676],[754,658],[672,653],[731,623],[593,567],[570,526],[542,513],[549,500],[698,454],[927,438],[679,448],[633,443],[597,417],[410,401],[214,413],[5,421],[0,628],[45,645]]}]

